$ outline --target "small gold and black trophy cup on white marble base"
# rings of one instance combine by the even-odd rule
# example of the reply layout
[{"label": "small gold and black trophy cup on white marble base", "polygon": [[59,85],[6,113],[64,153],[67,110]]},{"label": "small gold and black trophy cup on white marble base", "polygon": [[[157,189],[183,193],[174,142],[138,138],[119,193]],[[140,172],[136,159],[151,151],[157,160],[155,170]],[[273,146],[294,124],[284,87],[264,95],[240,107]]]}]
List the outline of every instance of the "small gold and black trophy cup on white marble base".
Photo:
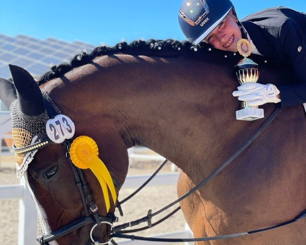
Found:
[{"label": "small gold and black trophy cup on white marble base", "polygon": [[[235,66],[236,75],[240,85],[246,83],[256,83],[259,78],[258,64],[247,58],[252,51],[252,46],[246,39],[240,39],[237,42],[239,54],[244,58]],[[249,106],[247,101],[241,103],[241,110],[236,111],[237,120],[256,120],[264,117],[264,110],[258,106]]]}]

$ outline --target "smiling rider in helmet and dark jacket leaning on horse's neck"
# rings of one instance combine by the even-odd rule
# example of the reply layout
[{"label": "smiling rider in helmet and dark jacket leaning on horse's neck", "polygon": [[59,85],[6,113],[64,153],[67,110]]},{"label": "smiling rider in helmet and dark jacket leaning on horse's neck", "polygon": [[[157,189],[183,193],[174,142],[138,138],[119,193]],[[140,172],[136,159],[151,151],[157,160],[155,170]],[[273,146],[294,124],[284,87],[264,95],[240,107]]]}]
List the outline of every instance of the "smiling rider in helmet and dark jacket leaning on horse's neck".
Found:
[{"label": "smiling rider in helmet and dark jacket leaning on horse's neck", "polygon": [[[253,13],[241,21],[229,0],[184,0],[179,11],[179,23],[193,44],[206,42],[218,50],[237,52],[237,42],[246,38],[252,53],[292,66],[298,83],[272,85],[275,96],[268,96],[268,86],[244,84],[234,91],[238,100],[250,106],[268,102],[290,107],[306,102],[306,14],[278,7]],[[306,104],[304,104],[306,111]]]}]

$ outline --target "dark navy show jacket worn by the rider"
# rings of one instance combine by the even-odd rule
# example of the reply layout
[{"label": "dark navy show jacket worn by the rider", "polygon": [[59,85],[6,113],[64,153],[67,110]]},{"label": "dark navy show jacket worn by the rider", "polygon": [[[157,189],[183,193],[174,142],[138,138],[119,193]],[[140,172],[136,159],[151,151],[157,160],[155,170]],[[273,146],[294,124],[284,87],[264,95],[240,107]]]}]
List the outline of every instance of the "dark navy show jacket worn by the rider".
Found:
[{"label": "dark navy show jacket worn by the rider", "polygon": [[306,102],[306,14],[278,7],[241,20],[258,51],[277,62],[290,64],[298,83],[278,85],[282,107]]}]

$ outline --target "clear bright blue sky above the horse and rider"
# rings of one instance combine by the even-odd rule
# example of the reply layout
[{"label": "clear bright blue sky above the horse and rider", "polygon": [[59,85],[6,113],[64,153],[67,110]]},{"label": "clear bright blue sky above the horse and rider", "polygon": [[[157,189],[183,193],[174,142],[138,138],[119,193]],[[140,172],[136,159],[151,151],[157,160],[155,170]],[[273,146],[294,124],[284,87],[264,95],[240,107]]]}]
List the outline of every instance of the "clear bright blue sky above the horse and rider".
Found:
[{"label": "clear bright blue sky above the horse and rider", "polygon": [[[287,6],[306,12],[305,0],[233,0],[238,17]],[[114,45],[143,38],[185,39],[177,23],[181,0],[1,0],[0,33]]]}]

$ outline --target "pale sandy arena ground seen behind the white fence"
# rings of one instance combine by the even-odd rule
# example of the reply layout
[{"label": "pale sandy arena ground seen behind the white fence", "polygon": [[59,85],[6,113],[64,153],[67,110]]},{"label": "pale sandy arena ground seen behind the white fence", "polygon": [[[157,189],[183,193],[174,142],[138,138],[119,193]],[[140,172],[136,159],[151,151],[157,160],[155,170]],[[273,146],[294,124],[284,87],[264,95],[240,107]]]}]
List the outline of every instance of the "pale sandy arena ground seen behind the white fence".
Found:
[{"label": "pale sandy arena ground seen behind the white fence", "polygon": [[[18,184],[19,180],[16,177],[13,158],[9,156],[0,156],[0,160],[0,185]],[[134,160],[130,165],[129,175],[151,174],[160,164],[161,161]],[[166,173],[171,170],[171,165],[168,164],[162,171]],[[124,199],[124,197],[127,197],[127,195],[133,191],[134,189],[122,189],[119,193],[119,200]],[[126,205],[123,205],[124,217],[120,217],[120,224],[145,216],[148,209],[152,209],[152,211],[155,212],[161,207],[174,201],[176,198],[177,194],[175,185],[145,187],[145,189],[139,192],[133,200],[130,200],[126,202]],[[0,244],[17,244],[18,203],[18,200],[0,200]],[[120,216],[119,213],[116,213],[116,216]],[[152,221],[154,222],[154,220]],[[154,234],[174,232],[184,229],[184,217],[180,210],[172,217],[165,220],[162,224],[147,231],[136,233],[136,235],[151,236]],[[38,233],[40,233],[40,229],[38,230]],[[36,243],[33,242],[33,244]],[[176,244],[180,245],[184,243]]]}]

